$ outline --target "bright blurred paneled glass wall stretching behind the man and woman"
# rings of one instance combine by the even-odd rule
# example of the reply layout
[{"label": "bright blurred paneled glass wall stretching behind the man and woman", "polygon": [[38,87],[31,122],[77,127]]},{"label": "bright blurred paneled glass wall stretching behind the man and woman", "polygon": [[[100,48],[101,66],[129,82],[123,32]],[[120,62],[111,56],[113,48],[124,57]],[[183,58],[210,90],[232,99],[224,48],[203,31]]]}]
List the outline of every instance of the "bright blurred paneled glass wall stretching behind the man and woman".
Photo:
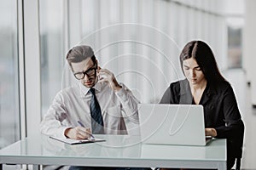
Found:
[{"label": "bright blurred paneled glass wall stretching behind the man and woman", "polygon": [[226,29],[220,5],[40,0],[42,114],[57,91],[73,83],[65,54],[78,44],[94,48],[99,65],[113,71],[143,103],[157,103],[170,82],[183,78],[178,55],[192,39],[208,42],[224,69],[227,35],[220,34]]}]

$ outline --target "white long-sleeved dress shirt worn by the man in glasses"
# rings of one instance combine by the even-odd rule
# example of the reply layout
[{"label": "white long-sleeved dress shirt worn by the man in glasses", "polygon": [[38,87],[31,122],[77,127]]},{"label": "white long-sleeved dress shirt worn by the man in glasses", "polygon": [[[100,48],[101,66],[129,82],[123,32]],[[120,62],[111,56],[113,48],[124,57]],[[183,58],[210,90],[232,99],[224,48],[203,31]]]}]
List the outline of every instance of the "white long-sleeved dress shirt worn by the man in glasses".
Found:
[{"label": "white long-sleeved dress shirt worn by the man in glasses", "polygon": [[[106,82],[96,83],[96,98],[101,106],[106,134],[139,134],[138,100],[131,91],[121,83],[122,88],[114,92]],[[62,89],[56,94],[52,105],[40,124],[41,133],[49,136],[66,137],[68,127],[79,126],[91,128],[90,88],[81,83]],[[128,125],[128,127],[127,127]],[[130,133],[131,132],[131,133]]]}]

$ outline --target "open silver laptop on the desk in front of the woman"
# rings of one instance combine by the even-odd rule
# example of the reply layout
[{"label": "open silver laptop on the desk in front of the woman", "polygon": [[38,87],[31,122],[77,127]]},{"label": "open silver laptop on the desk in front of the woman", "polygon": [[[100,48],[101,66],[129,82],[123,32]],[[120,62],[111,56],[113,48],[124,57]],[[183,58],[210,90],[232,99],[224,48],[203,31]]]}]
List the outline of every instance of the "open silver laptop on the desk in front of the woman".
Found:
[{"label": "open silver laptop on the desk in front of the woman", "polygon": [[204,146],[212,138],[205,136],[202,105],[138,105],[141,137],[144,144]]}]

